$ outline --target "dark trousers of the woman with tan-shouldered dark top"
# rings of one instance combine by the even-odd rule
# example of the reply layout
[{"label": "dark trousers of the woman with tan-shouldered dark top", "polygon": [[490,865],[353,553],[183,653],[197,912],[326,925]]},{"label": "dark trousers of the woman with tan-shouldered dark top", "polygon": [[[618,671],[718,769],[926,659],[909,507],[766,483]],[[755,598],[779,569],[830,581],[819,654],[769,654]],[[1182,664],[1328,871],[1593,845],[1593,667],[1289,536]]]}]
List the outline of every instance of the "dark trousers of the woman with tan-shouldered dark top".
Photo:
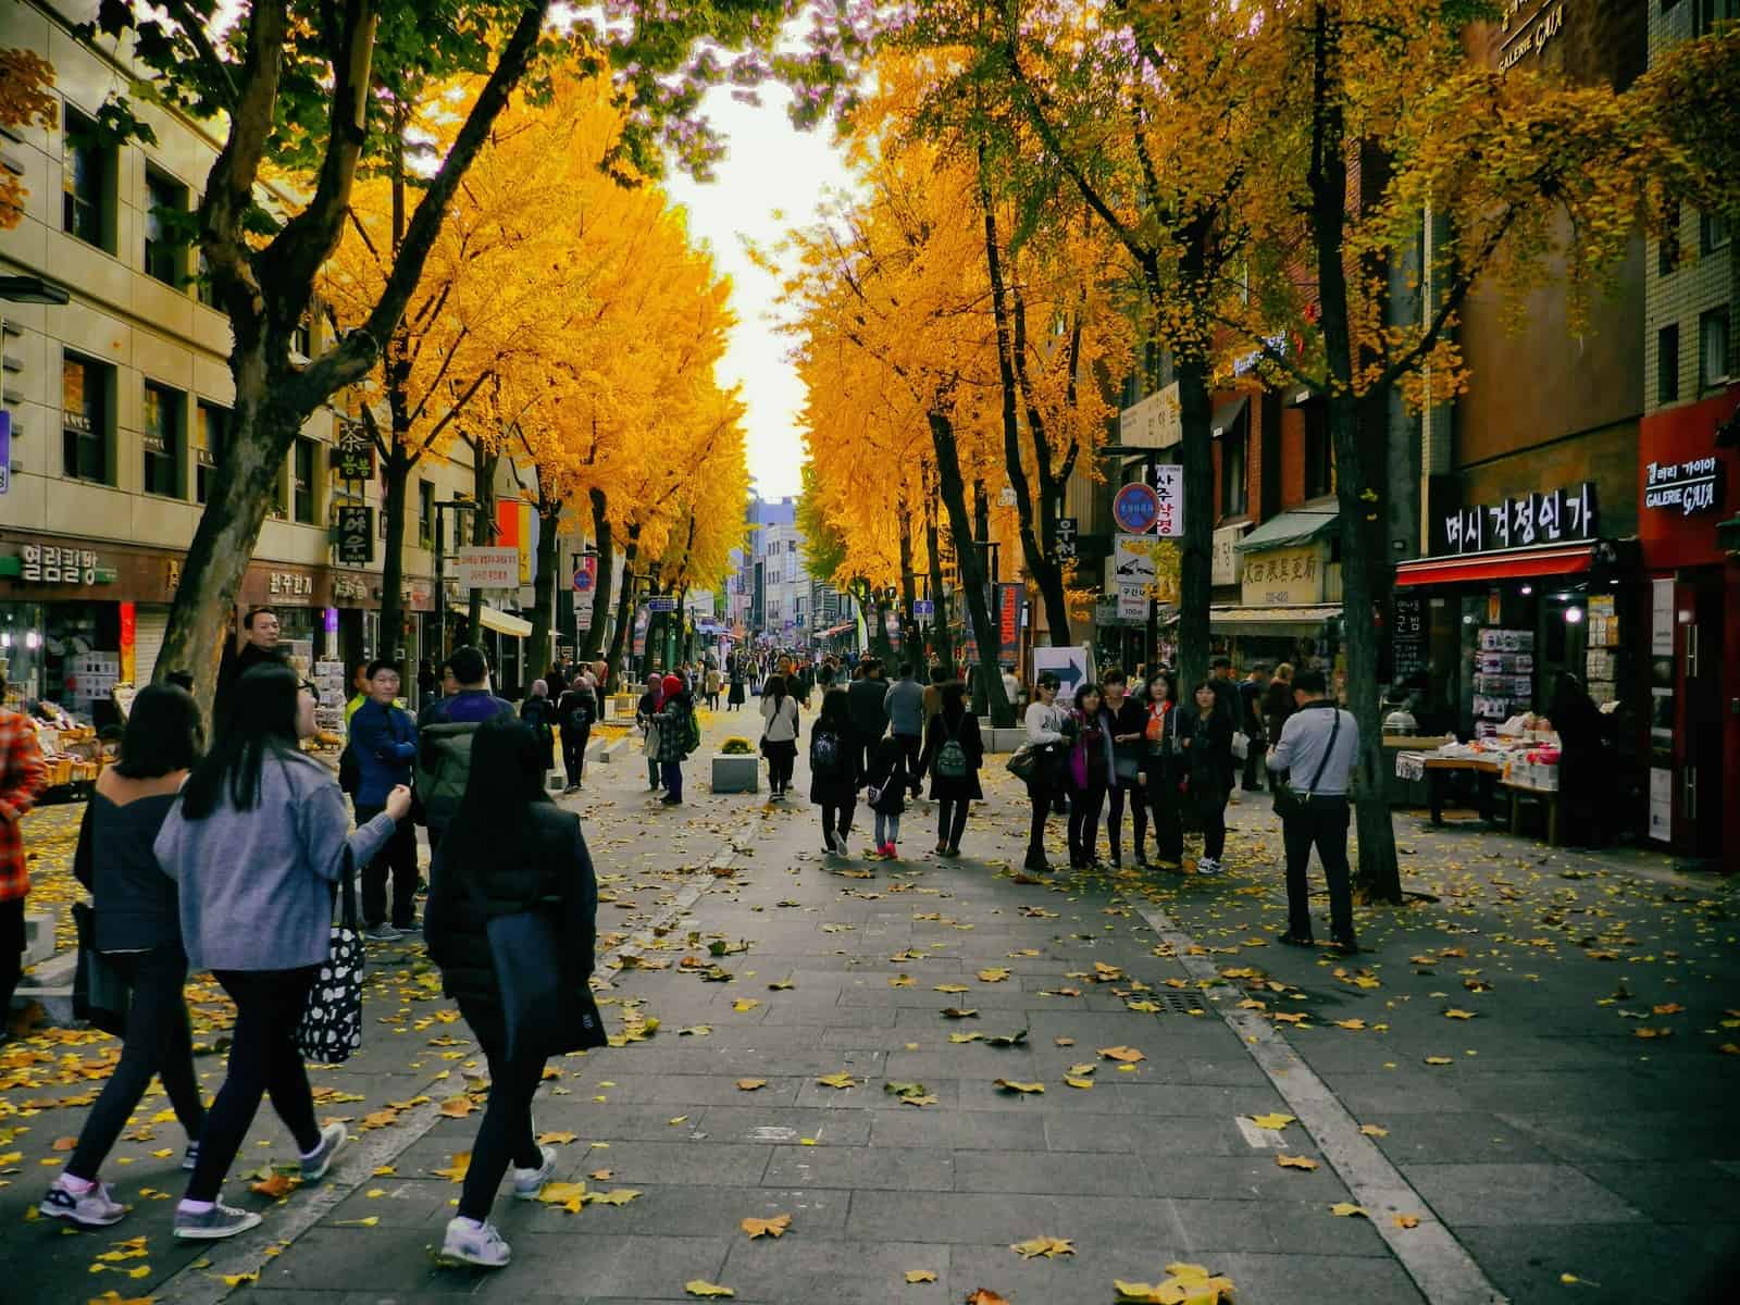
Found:
[{"label": "dark trousers of the woman with tan-shouldered dark top", "polygon": [[198,1141],[205,1129],[205,1103],[193,1077],[188,1002],[181,994],[188,978],[186,952],[181,943],[164,943],[150,952],[111,952],[108,959],[132,985],[132,1004],[127,1007],[120,1061],[90,1107],[78,1133],[78,1148],[66,1162],[66,1173],[87,1183],[96,1181],[153,1074],[164,1077],[164,1091],[188,1140]]}]

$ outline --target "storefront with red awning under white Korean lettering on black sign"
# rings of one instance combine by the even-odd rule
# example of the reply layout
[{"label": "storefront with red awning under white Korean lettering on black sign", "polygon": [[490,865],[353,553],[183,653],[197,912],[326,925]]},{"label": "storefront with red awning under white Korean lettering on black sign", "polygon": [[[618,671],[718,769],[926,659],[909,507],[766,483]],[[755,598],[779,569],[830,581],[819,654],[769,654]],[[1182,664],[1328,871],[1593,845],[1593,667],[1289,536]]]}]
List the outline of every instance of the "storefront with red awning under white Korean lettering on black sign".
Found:
[{"label": "storefront with red awning under white Korean lettering on black sign", "polygon": [[[1618,755],[1630,755],[1641,574],[1634,545],[1601,536],[1596,485],[1451,510],[1432,550],[1397,566],[1389,612],[1395,687],[1420,733],[1479,740],[1516,717],[1550,715],[1573,673],[1613,717]],[[1613,781],[1623,828],[1641,807],[1643,774]]]}]

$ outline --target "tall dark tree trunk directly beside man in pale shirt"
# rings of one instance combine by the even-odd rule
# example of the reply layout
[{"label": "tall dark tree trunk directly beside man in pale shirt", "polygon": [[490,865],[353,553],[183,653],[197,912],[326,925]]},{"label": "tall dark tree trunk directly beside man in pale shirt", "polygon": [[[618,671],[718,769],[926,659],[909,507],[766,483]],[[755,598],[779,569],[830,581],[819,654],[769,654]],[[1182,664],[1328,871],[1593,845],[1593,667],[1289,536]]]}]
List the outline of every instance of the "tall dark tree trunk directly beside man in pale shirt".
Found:
[{"label": "tall dark tree trunk directly beside man in pale shirt", "polygon": [[1383,733],[1378,705],[1378,632],[1373,621],[1373,571],[1387,559],[1371,555],[1366,513],[1382,513],[1382,498],[1366,478],[1354,397],[1354,343],[1347,298],[1347,129],[1342,113],[1342,52],[1338,19],[1317,5],[1312,68],[1310,223],[1322,306],[1324,364],[1329,372],[1329,437],[1336,458],[1336,506],[1342,538],[1342,625],[1347,647],[1347,705],[1359,722],[1359,867],[1355,893],[1364,901],[1401,903],[1395,826],[1385,800]]}]

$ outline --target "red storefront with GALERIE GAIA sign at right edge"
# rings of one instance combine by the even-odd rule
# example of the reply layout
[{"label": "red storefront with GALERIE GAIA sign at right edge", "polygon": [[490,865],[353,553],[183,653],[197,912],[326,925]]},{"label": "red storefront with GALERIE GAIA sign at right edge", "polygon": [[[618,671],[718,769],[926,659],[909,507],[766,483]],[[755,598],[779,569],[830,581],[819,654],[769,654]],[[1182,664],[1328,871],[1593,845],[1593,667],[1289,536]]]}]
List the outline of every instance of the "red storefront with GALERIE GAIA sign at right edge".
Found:
[{"label": "red storefront with GALERIE GAIA sign at right edge", "polygon": [[1740,454],[1716,447],[1716,428],[1735,419],[1737,402],[1731,390],[1644,418],[1637,459],[1648,835],[1728,868],[1740,863],[1740,564],[1717,527],[1740,512]]}]

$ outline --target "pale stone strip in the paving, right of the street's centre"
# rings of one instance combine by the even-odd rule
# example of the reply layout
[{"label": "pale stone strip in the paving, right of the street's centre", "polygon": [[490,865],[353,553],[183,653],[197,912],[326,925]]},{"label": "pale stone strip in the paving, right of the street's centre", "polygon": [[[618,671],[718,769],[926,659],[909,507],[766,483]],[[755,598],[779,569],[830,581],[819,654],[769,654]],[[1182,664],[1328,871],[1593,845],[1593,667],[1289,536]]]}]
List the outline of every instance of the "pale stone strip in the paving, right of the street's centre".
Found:
[{"label": "pale stone strip in the paving, right of the street's centre", "polygon": [[[1192,955],[1194,940],[1166,912],[1138,907],[1155,936],[1194,980],[1218,980],[1213,959]],[[1427,1305],[1509,1305],[1474,1256],[1456,1241],[1401,1171],[1359,1131],[1359,1124],[1312,1072],[1275,1027],[1255,1011],[1228,1009],[1220,990],[1208,990],[1209,1007],[1239,1035],[1251,1060],[1263,1070],[1298,1122],[1317,1141],[1329,1168],[1340,1174],[1354,1202],[1369,1211],[1368,1220],[1390,1255],[1420,1288]],[[1395,1215],[1415,1215],[1415,1228],[1399,1228]]]}]

